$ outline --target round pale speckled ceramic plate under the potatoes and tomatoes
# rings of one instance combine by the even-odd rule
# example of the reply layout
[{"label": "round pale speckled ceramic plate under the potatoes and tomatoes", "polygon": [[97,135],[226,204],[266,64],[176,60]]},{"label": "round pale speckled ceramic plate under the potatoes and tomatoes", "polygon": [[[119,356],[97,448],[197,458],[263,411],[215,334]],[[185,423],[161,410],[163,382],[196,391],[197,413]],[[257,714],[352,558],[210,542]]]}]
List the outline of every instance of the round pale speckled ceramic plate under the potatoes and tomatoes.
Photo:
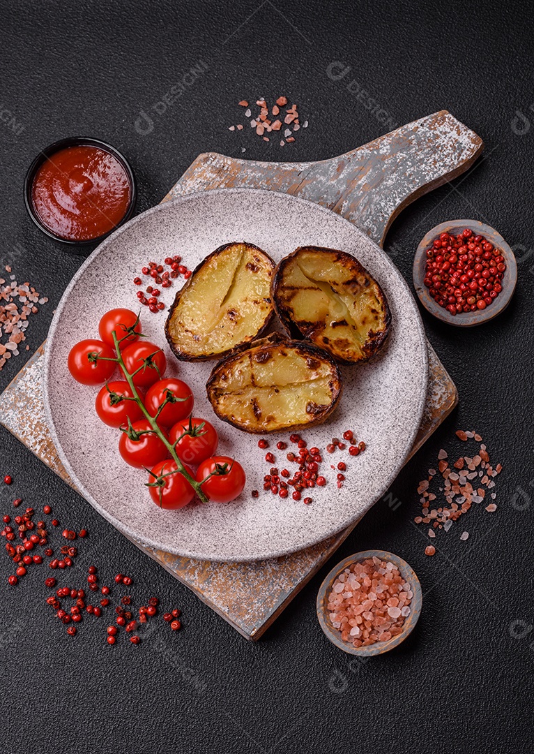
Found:
[{"label": "round pale speckled ceramic plate under the potatoes and tomatoes", "polygon": [[[102,425],[94,412],[98,388],[75,383],[67,356],[78,340],[98,337],[99,318],[109,308],[136,310],[133,277],[148,259],[180,254],[194,268],[207,254],[230,241],[249,241],[275,261],[298,246],[333,247],[354,254],[377,278],[392,311],[392,329],[380,354],[363,366],[343,367],[344,392],[328,421],[303,433],[324,449],[346,429],[365,440],[357,458],[347,451],[324,452],[325,487],[310,491],[313,504],[279,498],[263,490],[269,467],[258,436],[240,432],[215,417],[205,384],[214,362],[177,363],[163,333],[166,312],[142,308],[143,331],[165,345],[169,373],[194,389],[194,415],[216,426],[219,452],[238,458],[247,474],[246,489],[230,504],[191,503],[182,510],[155,506],[144,486],[145,472],[124,464],[118,432]],[[169,305],[176,288],[163,291]],[[72,480],[102,516],[124,534],[151,547],[211,560],[255,560],[301,550],[339,532],[368,510],[395,479],[413,444],[426,397],[426,339],[417,305],[388,256],[337,214],[285,194],[221,189],[160,204],[107,238],[69,284],[53,318],[46,349],[45,404],[56,448]],[[277,467],[288,465],[287,451],[271,435]],[[343,458],[346,482],[337,489],[330,464]],[[252,498],[253,489],[260,490]]]}]

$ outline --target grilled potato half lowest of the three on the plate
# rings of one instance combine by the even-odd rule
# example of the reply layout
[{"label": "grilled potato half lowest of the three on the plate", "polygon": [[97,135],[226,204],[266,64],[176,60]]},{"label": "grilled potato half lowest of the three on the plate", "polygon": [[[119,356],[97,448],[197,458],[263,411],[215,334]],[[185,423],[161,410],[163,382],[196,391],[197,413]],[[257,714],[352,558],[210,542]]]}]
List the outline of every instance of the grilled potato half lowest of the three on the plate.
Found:
[{"label": "grilled potato half lowest of the three on the plate", "polygon": [[206,390],[219,418],[245,432],[264,434],[325,421],[340,399],[341,374],[320,348],[267,340],[221,361]]}]

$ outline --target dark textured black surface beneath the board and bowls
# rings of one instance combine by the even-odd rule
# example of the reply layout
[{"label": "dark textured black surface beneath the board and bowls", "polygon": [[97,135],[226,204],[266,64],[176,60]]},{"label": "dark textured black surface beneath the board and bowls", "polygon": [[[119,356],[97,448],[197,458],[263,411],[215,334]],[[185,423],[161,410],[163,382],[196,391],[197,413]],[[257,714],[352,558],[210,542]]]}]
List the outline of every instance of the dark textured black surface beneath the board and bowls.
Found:
[{"label": "dark textured black surface beneath the board and bowls", "polygon": [[[366,664],[319,630],[314,601],[327,569],[249,644],[0,431],[2,475],[15,480],[0,485],[2,512],[17,495],[38,508],[50,501],[62,522],[90,530],[82,573],[91,562],[104,580],[127,569],[136,599],[155,593],[184,611],[182,633],[170,636],[161,621],[139,647],[106,646],[104,619],[85,621],[72,639],[44,604],[44,570],[8,589],[5,558],[2,754],[532,749],[532,47],[526,2],[2,4],[0,260],[50,296],[29,328],[32,351],[81,263],[47,240],[23,206],[26,167],[63,136],[96,136],[122,149],[145,210],[199,152],[241,156],[246,146],[253,159],[317,160],[446,108],[484,138],[484,158],[402,213],[386,250],[411,282],[423,234],[466,217],[497,228],[519,262],[514,301],[489,325],[452,329],[423,314],[460,404],[392,486],[401,504],[377,504],[339,551],[341,559],[392,550],[423,584],[415,632]],[[327,75],[334,61],[350,66],[336,81]],[[159,114],[154,104],[200,62],[206,71]],[[310,121],[291,149],[227,130],[237,100],[282,92]],[[0,372],[0,388],[21,366],[23,357]],[[499,509],[472,510],[426,558],[422,532],[410,523],[417,482],[459,427],[477,428],[505,467]],[[463,529],[467,542],[459,541]]]}]

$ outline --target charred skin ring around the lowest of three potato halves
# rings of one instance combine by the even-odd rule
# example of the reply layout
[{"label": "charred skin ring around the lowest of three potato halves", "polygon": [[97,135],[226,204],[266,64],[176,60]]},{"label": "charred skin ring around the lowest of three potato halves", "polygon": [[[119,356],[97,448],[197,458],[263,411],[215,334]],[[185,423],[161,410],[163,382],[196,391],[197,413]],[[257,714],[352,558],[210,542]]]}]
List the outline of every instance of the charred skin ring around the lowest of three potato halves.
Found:
[{"label": "charred skin ring around the lowest of three potato halves", "polygon": [[[310,412],[314,413],[313,419],[310,419],[310,421],[301,423],[301,424],[290,424],[285,423],[283,425],[278,425],[276,427],[267,429],[265,427],[258,426],[257,428],[243,428],[243,426],[239,425],[238,423],[234,422],[229,418],[227,415],[225,415],[223,412],[218,410],[218,406],[215,400],[214,390],[215,387],[221,378],[221,375],[223,372],[230,372],[231,369],[233,369],[233,366],[246,354],[249,354],[251,357],[258,359],[261,363],[261,356],[262,354],[269,354],[270,351],[273,350],[273,348],[291,348],[295,349],[295,351],[298,352],[301,356],[305,358],[310,359],[318,359],[322,362],[328,363],[328,365],[331,367],[332,370],[332,378],[330,381],[330,388],[331,388],[331,402],[328,404],[328,406],[320,406],[320,410],[316,412]],[[221,421],[226,421],[227,424],[231,425],[232,427],[235,427],[236,429],[239,429],[242,432],[246,432],[247,434],[272,434],[275,432],[282,432],[285,430],[304,430],[309,427],[316,427],[317,425],[321,425],[326,419],[331,415],[331,413],[334,412],[334,410],[337,408],[337,404],[340,401],[341,394],[343,392],[343,382],[341,377],[341,372],[339,369],[339,366],[337,366],[336,361],[333,357],[331,357],[331,354],[328,354],[328,351],[323,350],[322,348],[317,348],[315,345],[311,343],[304,343],[301,340],[288,340],[284,336],[279,336],[278,333],[273,333],[273,336],[267,336],[267,338],[264,338],[261,340],[259,344],[252,344],[251,347],[249,347],[246,352],[239,352],[239,353],[233,353],[229,356],[225,357],[223,360],[221,360],[218,364],[214,366],[212,369],[211,375],[209,375],[208,382],[206,382],[206,394],[209,400],[209,403],[212,405],[212,409],[214,410],[215,414],[218,416],[218,418],[221,419]]]}]

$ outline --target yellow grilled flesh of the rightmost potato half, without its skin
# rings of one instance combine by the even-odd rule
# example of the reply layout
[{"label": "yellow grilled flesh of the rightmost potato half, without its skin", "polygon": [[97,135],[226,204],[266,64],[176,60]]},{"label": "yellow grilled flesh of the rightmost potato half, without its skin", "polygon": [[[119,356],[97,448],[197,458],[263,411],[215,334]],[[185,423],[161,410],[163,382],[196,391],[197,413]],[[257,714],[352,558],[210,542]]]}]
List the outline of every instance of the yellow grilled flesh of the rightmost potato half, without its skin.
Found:
[{"label": "yellow grilled flesh of the rightmost potato half, without its skin", "polygon": [[295,323],[317,323],[320,332],[313,338],[317,345],[335,344],[347,358],[350,351],[363,357],[368,334],[384,326],[376,288],[365,282],[363,274],[355,281],[346,265],[316,252],[302,252],[284,270],[283,286],[292,290],[282,291],[282,297]]}]

